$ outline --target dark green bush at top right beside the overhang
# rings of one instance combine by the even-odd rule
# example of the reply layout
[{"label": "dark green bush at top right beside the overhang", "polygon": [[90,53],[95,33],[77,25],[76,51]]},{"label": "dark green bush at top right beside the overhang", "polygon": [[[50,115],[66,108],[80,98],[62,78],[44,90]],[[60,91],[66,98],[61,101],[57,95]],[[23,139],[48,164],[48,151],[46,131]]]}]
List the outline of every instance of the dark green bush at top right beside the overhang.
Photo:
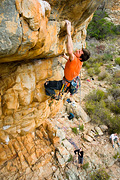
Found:
[{"label": "dark green bush at top right beside the overhang", "polygon": [[107,17],[108,15],[105,11],[97,10],[88,26],[88,36],[95,37],[99,40],[110,35],[119,35],[120,26],[116,26],[112,22],[108,21]]}]

